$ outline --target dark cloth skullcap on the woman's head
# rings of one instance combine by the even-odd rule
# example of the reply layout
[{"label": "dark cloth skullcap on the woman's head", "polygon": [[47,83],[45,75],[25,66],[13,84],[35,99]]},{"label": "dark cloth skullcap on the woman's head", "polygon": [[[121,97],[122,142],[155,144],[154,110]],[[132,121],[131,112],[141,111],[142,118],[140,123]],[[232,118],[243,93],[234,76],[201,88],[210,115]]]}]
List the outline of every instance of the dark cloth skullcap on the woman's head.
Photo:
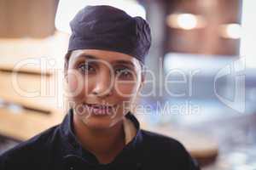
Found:
[{"label": "dark cloth skullcap on the woman's head", "polygon": [[70,22],[68,51],[102,49],[129,54],[144,63],[151,45],[150,28],[142,17],[131,17],[108,5],[86,6]]}]

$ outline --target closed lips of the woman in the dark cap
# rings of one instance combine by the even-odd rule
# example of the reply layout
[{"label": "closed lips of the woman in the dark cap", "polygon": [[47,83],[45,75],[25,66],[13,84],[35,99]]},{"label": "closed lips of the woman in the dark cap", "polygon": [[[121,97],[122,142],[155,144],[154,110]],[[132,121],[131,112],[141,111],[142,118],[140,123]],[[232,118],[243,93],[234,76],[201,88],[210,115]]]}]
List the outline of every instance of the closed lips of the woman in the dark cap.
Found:
[{"label": "closed lips of the woman in the dark cap", "polygon": [[90,113],[94,115],[110,115],[113,112],[114,105],[96,105],[85,104]]}]

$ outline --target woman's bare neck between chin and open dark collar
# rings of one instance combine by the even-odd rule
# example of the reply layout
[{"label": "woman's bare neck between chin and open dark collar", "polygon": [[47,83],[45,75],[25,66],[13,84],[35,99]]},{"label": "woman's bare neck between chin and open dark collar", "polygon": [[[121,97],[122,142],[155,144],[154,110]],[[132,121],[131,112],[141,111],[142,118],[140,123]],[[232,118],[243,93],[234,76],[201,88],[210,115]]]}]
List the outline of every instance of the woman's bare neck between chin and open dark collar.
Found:
[{"label": "woman's bare neck between chin and open dark collar", "polygon": [[79,117],[73,116],[73,127],[84,149],[90,150],[103,164],[113,161],[125,146],[122,121],[108,129],[92,129],[86,126]]}]

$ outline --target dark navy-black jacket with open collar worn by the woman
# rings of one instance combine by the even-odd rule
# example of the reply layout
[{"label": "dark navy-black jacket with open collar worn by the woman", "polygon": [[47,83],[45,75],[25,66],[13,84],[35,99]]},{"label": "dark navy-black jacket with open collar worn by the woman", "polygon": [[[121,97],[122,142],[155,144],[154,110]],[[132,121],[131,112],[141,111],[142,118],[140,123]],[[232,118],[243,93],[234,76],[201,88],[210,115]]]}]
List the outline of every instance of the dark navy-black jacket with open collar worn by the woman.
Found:
[{"label": "dark navy-black jacket with open collar worn by the woman", "polygon": [[[0,170],[198,170],[183,144],[176,139],[140,129],[137,118],[126,118],[137,127],[136,136],[108,164],[82,148],[73,133],[73,110],[60,125],[18,144],[0,156]],[[26,133],[26,132],[24,132]]]}]

